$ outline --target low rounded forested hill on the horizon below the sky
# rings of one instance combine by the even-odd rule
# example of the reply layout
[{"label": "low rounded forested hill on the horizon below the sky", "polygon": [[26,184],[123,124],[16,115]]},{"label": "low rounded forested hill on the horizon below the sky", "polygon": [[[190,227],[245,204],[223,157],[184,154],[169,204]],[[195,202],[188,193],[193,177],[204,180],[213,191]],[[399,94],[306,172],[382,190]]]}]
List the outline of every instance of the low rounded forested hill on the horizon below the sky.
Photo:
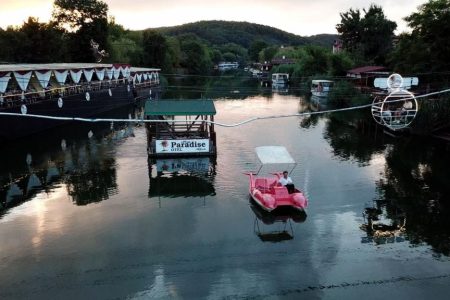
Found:
[{"label": "low rounded forested hill on the horizon below the sky", "polygon": [[[270,26],[248,22],[231,21],[200,21],[173,27],[160,27],[154,30],[168,36],[178,36],[193,33],[212,45],[224,45],[235,43],[244,48],[249,48],[253,41],[262,40],[268,45],[305,45],[328,43],[328,35],[325,40],[321,36],[314,39],[301,37]],[[328,43],[328,45],[330,45]]]}]

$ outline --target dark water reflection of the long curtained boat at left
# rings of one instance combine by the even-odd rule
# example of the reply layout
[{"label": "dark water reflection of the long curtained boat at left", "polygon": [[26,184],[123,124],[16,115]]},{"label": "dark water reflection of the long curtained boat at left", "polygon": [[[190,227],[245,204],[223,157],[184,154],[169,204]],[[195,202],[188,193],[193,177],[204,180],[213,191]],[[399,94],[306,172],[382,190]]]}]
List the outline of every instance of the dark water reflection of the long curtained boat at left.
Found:
[{"label": "dark water reflection of the long curtained boat at left", "polygon": [[[113,111],[126,118],[134,107]],[[77,123],[8,144],[0,149],[0,216],[65,184],[76,205],[108,199],[117,190],[111,143],[133,136],[133,126]]]}]

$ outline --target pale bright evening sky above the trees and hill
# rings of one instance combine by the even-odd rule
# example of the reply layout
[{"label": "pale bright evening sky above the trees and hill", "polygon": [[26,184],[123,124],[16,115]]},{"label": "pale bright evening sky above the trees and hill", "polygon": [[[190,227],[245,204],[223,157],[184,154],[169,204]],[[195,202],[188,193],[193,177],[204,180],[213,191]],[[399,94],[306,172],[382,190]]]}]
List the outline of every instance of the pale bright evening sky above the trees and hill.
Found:
[{"label": "pale bright evening sky above the trees and hill", "polygon": [[[339,13],[350,8],[383,7],[397,22],[397,33],[408,31],[405,16],[426,0],[106,0],[109,15],[128,29],[181,25],[200,20],[246,21],[309,36],[336,33]],[[0,27],[20,25],[28,16],[46,22],[53,0],[0,0]]]}]

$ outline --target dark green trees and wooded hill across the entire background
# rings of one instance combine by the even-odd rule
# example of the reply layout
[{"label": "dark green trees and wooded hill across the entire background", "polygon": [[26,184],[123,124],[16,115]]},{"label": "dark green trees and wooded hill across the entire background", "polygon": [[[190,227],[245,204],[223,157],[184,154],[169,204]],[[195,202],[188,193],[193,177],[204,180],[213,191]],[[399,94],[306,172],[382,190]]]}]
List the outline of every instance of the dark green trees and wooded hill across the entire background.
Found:
[{"label": "dark green trees and wooded hill across the entire background", "polygon": [[[200,21],[174,27],[131,31],[108,15],[99,0],[55,0],[48,23],[29,17],[21,26],[0,29],[0,62],[93,62],[90,40],[109,56],[104,62],[158,67],[165,81],[183,76],[217,76],[221,61],[240,66],[288,58],[272,73],[288,73],[290,85],[308,90],[312,79],[336,82],[329,100],[336,106],[370,103],[346,79],[346,71],[359,66],[385,66],[392,72],[419,77],[417,93],[450,86],[450,0],[429,0],[404,20],[410,33],[394,35],[397,24],[377,5],[340,13],[338,35],[301,37],[247,22]],[[339,51],[333,53],[338,41]],[[231,73],[232,74],[232,73]],[[238,72],[241,76],[242,72]],[[422,101],[423,117],[413,131],[431,134],[450,127],[450,96]],[[419,127],[420,126],[420,127]],[[417,128],[414,128],[417,127]]]}]

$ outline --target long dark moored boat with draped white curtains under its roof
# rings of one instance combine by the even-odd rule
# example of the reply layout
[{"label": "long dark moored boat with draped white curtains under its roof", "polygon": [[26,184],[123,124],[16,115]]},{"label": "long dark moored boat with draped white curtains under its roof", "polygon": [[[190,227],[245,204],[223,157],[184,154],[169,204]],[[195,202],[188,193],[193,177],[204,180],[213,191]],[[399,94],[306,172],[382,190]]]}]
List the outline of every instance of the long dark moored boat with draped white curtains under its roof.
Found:
[{"label": "long dark moored boat with draped white curtains under its roof", "polygon": [[0,140],[67,122],[58,117],[92,117],[147,99],[159,71],[127,64],[0,65]]}]

